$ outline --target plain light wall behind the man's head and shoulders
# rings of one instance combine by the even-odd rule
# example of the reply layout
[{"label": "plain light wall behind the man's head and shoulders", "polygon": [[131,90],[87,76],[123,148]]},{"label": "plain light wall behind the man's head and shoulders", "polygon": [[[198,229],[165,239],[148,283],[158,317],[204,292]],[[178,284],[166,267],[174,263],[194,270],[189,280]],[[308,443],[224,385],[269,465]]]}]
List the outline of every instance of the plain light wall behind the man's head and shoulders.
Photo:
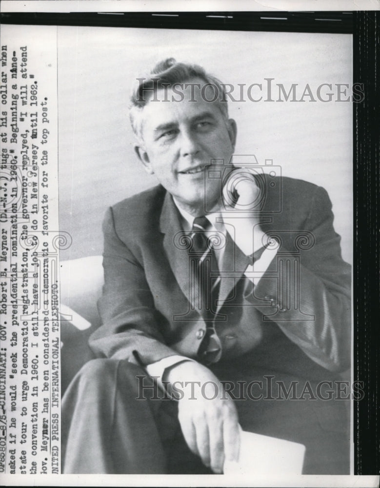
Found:
[{"label": "plain light wall behind the man's head and shoulders", "polygon": [[66,26],[58,27],[60,230],[73,244],[60,259],[101,254],[106,208],[157,183],[133,151],[127,107],[132,80],[167,57],[196,62],[236,90],[274,78],[286,91],[298,83],[300,99],[306,83],[314,95],[333,84],[332,102],[246,99],[229,102],[229,113],[236,154],[271,159],[282,175],[328,191],[351,263],[352,103],[337,102],[334,87],[352,85],[351,35]]}]

